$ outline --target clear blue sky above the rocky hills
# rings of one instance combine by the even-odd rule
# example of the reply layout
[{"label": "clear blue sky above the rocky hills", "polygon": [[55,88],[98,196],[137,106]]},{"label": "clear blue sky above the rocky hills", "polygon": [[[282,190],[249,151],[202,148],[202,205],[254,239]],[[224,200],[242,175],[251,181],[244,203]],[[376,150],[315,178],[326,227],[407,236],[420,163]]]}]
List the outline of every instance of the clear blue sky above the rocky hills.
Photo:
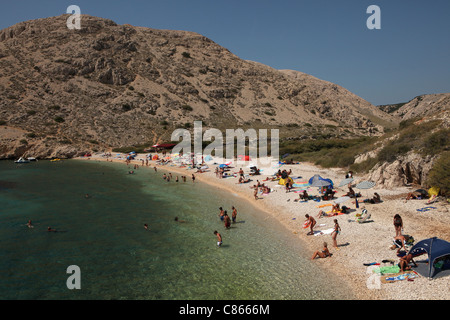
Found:
[{"label": "clear blue sky above the rocky hills", "polygon": [[[242,59],[339,84],[378,105],[450,92],[449,0],[3,0],[0,28],[63,14],[200,33]],[[369,5],[381,30],[369,30]]]}]

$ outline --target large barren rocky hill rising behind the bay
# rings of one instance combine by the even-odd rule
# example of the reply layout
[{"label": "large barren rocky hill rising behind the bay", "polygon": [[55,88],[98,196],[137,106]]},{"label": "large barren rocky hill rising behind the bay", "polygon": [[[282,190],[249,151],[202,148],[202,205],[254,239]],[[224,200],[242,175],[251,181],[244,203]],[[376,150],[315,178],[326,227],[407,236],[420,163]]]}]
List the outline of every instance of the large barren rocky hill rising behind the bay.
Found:
[{"label": "large barren rocky hill rising behind the bay", "polygon": [[196,33],[87,15],[69,30],[68,17],[0,31],[0,158],[169,141],[194,120],[284,137],[311,127],[380,135],[396,123],[336,84],[242,60]]}]

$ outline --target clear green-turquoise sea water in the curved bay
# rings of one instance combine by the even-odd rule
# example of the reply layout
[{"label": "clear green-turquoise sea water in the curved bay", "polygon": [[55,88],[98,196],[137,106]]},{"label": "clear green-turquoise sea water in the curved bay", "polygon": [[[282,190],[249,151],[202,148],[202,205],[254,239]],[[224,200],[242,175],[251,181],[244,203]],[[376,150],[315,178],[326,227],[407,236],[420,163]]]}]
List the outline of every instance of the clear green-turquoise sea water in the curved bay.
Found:
[{"label": "clear green-turquoise sea water in the curved bay", "polygon": [[[292,234],[237,195],[128,170],[0,162],[0,299],[352,299]],[[218,208],[231,214],[232,205],[238,223],[225,230]],[[81,290],[66,286],[70,265],[81,269]]]}]

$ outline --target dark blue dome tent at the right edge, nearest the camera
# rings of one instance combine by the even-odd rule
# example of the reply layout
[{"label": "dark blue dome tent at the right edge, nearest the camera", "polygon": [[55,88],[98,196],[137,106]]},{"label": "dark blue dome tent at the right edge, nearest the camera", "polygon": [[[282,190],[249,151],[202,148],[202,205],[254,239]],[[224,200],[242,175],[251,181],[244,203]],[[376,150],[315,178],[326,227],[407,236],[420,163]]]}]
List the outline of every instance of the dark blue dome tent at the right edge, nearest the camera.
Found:
[{"label": "dark blue dome tent at the right edge, nearest the camera", "polygon": [[[438,272],[443,271],[446,268],[450,268],[448,261],[450,260],[450,242],[439,239],[437,237],[425,239],[415,244],[411,250],[409,250],[414,256],[418,256],[424,253],[428,254],[428,266],[425,274],[429,278],[433,278]],[[436,262],[437,259],[441,258]]]}]

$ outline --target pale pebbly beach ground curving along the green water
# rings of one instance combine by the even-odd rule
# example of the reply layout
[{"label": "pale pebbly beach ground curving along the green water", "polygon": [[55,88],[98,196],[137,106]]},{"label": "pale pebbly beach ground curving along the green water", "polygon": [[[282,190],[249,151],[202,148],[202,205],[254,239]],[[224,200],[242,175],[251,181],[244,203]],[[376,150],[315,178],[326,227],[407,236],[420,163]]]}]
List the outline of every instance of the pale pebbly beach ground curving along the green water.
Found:
[{"label": "pale pebbly beach ground curving along the green water", "polygon": [[[125,156],[109,158],[109,161],[125,164]],[[140,159],[145,159],[146,155],[137,155],[135,160],[129,164],[131,170],[134,165],[142,168]],[[84,159],[86,158],[78,158]],[[106,161],[107,158],[101,155],[93,155],[91,161]],[[359,208],[355,208],[352,200],[342,205],[350,207],[351,212],[335,217],[318,218],[319,210],[329,211],[330,206],[319,208],[322,205],[333,204],[333,200],[316,202],[309,200],[307,202],[296,202],[299,193],[286,192],[284,186],[279,186],[278,181],[263,181],[268,175],[252,176],[252,181],[246,184],[238,184],[238,178],[217,178],[214,172],[217,165],[208,163],[209,171],[204,173],[196,173],[196,169],[187,169],[176,165],[159,165],[156,161],[149,161],[149,169],[156,166],[164,172],[172,172],[174,176],[177,174],[184,175],[191,182],[191,175],[194,174],[196,182],[204,182],[209,185],[220,188],[224,191],[236,194],[242,199],[251,202],[266,218],[277,219],[286,227],[287,232],[291,232],[302,244],[313,252],[322,248],[322,243],[328,243],[328,248],[333,254],[330,258],[316,259],[314,263],[320,268],[324,268],[335,274],[346,283],[348,283],[358,299],[362,300],[448,300],[450,277],[441,277],[428,279],[419,276],[414,281],[396,281],[394,283],[380,283],[378,275],[373,273],[374,267],[367,267],[364,264],[377,262],[380,266],[388,266],[390,264],[382,263],[383,260],[393,260],[398,263],[396,250],[391,250],[395,230],[393,226],[393,217],[400,214],[404,224],[404,234],[414,237],[417,243],[420,240],[438,237],[446,241],[450,241],[450,212],[449,205],[444,201],[433,203],[435,209],[428,211],[418,211],[417,209],[427,207],[427,200],[409,200],[405,201],[408,192],[417,188],[399,187],[394,189],[384,189],[375,186],[369,190],[358,190],[362,197],[359,198]],[[145,167],[145,166],[144,166]],[[237,173],[240,168],[231,168],[232,173]],[[249,169],[242,167],[246,174]],[[340,169],[322,169],[310,163],[301,163],[296,165],[283,165],[281,170],[292,170],[292,177],[296,183],[308,181],[315,174],[321,175],[323,178],[331,179],[335,184],[337,193],[336,197],[346,194],[347,187],[337,187],[341,180],[345,178],[346,172]],[[162,176],[162,173],[161,173]],[[259,199],[255,200],[254,190],[251,188],[256,184],[256,180],[265,183],[273,191],[267,195],[259,195]],[[355,181],[363,180],[355,174]],[[297,188],[295,190],[300,190]],[[310,195],[319,195],[318,188],[308,187]],[[380,194],[382,202],[377,204],[362,203],[362,199],[372,197],[373,193]],[[371,214],[369,222],[360,224],[356,222],[356,214],[361,213],[365,208]],[[316,219],[317,225],[315,230],[326,230],[334,226],[333,220],[337,219],[342,232],[337,236],[338,249],[332,246],[332,238],[330,234],[323,235],[306,235],[309,229],[303,229],[305,214],[309,214]]]}]

